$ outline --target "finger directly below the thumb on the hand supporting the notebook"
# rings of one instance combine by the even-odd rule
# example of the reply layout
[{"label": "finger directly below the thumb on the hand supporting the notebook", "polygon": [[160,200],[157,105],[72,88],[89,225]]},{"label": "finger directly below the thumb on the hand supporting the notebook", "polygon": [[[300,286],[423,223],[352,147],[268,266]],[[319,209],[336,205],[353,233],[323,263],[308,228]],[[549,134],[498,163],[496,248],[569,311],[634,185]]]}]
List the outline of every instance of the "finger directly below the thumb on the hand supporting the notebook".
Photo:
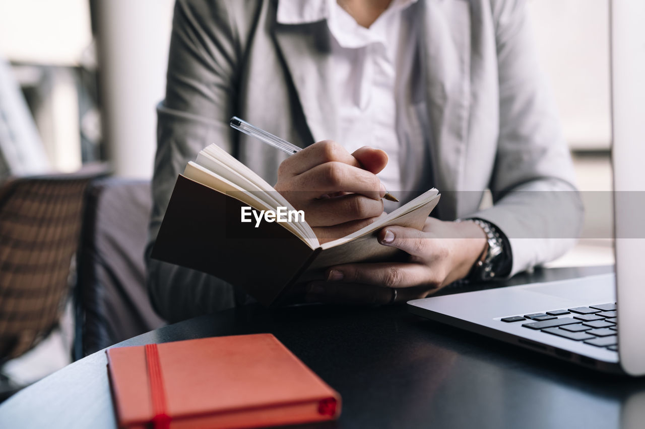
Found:
[{"label": "finger directly below the thumb on the hand supporting the notebook", "polygon": [[328,281],[365,283],[373,286],[406,288],[419,285],[439,287],[439,274],[422,263],[347,263],[327,270]]}]

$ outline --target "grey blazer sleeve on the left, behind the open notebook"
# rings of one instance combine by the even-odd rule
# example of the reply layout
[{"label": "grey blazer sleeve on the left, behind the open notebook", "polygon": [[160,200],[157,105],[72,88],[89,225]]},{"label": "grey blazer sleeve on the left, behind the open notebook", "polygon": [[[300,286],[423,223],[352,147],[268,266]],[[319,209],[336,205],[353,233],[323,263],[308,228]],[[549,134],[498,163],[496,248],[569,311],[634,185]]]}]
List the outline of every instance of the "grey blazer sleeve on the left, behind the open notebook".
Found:
[{"label": "grey blazer sleeve on the left, behind the open notebook", "polygon": [[241,37],[228,1],[177,0],[166,97],[157,106],[157,153],[152,179],[148,292],[168,321],[223,310],[246,300],[223,280],[150,258],[177,175],[208,144],[233,150],[228,119]]}]

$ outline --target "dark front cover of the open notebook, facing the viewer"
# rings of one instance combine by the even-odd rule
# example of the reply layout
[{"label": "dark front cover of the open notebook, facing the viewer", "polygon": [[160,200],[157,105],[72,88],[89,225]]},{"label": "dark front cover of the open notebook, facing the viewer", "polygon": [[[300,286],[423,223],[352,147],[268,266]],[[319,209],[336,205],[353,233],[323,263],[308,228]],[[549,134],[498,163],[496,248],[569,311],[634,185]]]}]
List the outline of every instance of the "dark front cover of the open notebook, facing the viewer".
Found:
[{"label": "dark front cover of the open notebook, facing the viewer", "polygon": [[277,303],[319,249],[312,250],[275,222],[261,228],[241,224],[243,205],[180,175],[152,258],[217,276],[264,305]]}]

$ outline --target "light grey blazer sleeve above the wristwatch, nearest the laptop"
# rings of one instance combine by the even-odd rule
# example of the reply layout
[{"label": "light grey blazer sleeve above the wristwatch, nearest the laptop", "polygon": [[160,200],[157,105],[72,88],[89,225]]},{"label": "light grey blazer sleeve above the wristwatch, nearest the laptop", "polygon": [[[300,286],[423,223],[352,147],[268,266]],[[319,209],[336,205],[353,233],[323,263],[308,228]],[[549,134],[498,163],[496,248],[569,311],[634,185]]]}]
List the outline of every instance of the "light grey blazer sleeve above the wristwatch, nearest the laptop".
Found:
[{"label": "light grey blazer sleeve above the wristwatch, nearest the laptop", "polygon": [[571,156],[531,40],[526,3],[491,1],[496,23],[500,126],[490,189],[473,214],[497,225],[511,247],[509,276],[573,247],[583,208]]}]

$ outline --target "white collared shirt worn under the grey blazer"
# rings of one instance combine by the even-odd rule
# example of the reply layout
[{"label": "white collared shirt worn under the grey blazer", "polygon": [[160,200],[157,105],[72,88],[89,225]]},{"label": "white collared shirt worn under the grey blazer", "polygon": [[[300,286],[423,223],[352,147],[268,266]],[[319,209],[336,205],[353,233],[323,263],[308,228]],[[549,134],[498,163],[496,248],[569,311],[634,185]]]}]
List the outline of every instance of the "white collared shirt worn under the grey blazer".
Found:
[{"label": "white collared shirt worn under the grey blazer", "polygon": [[[421,125],[418,120],[408,120],[411,93],[418,87],[410,78],[417,41],[415,26],[402,12],[416,1],[392,0],[370,28],[356,23],[336,0],[280,0],[277,10],[277,21],[281,24],[326,19],[333,36],[332,79],[339,124],[335,140],[350,153],[362,146],[386,151],[388,165],[379,178],[388,191],[399,193],[403,200],[409,198],[401,195],[404,186],[411,190],[428,189],[428,184],[422,183],[421,173],[427,152],[419,150],[424,130],[410,129]],[[410,144],[417,148],[409,150]],[[402,178],[402,173],[407,177]],[[395,206],[388,203],[386,210]]]}]

